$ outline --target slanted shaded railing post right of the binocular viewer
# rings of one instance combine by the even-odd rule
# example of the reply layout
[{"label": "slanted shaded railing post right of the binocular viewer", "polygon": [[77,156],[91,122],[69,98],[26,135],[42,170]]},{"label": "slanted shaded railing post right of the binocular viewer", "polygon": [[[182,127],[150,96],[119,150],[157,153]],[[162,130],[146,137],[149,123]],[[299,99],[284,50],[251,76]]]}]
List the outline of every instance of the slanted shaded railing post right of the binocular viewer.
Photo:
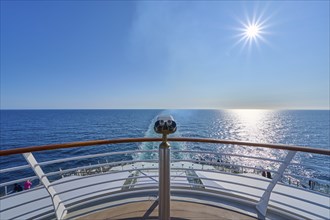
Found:
[{"label": "slanted shaded railing post right of the binocular viewer", "polygon": [[258,212],[262,215],[262,218],[266,217],[266,212],[267,212],[267,206],[269,203],[270,199],[270,194],[272,193],[276,183],[280,180],[282,177],[285,169],[288,167],[290,164],[292,158],[296,155],[296,151],[288,151],[288,154],[286,155],[284,162],[281,164],[281,166],[278,168],[278,173],[275,175],[275,177],[272,179],[272,181],[269,183],[267,189],[261,196],[256,208]]}]

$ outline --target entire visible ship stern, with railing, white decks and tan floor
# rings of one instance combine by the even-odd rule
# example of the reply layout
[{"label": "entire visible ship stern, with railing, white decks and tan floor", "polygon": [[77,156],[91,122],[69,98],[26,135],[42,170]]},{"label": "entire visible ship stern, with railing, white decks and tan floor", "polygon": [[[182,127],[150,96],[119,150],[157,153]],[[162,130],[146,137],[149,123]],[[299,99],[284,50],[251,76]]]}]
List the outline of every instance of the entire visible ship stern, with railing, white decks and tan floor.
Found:
[{"label": "entire visible ship stern, with railing, white decks and tan floor", "polygon": [[[0,170],[0,173],[12,173],[16,177],[21,170],[32,169],[35,174],[0,184],[5,188],[5,194],[0,197],[0,219],[330,219],[329,181],[287,169],[288,166],[299,166],[299,169],[327,170],[292,159],[300,151],[330,155],[329,150],[216,139],[169,140],[266,147],[287,153],[282,159],[272,159],[173,150],[173,158],[170,158],[169,151],[164,156],[161,150],[129,150],[43,162],[38,162],[31,153],[77,146],[162,141],[159,138],[95,140],[0,151],[0,156],[22,153],[28,163]],[[157,152],[159,159],[132,156]],[[176,154],[186,156],[177,159]],[[117,155],[131,157],[121,161],[107,160]],[[258,163],[236,164],[227,157]],[[89,159],[96,163],[87,162]],[[73,167],[61,169],[60,164],[68,162]],[[265,162],[274,166],[265,169],[256,165]],[[46,167],[48,172],[44,172]],[[167,172],[163,172],[164,167]],[[270,178],[262,175],[266,171]],[[39,183],[29,190],[8,192],[7,187],[10,189],[16,183],[31,179],[39,180]]]}]

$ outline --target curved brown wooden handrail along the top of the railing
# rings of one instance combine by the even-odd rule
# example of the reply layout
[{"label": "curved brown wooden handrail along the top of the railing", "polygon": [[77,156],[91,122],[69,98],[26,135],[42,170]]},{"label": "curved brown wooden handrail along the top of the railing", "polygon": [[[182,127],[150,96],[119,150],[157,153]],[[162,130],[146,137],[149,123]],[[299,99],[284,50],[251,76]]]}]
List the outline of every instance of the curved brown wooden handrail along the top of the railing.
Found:
[{"label": "curved brown wooden handrail along the top of the railing", "polygon": [[[302,146],[285,145],[285,144],[252,143],[246,141],[233,141],[233,140],[221,140],[221,139],[209,139],[209,138],[188,138],[188,137],[168,138],[167,140],[173,142],[200,142],[200,143],[213,143],[213,144],[244,145],[249,147],[264,147],[264,148],[280,149],[280,150],[301,151],[301,152],[316,153],[316,154],[323,154],[330,156],[330,150],[328,149],[319,149],[319,148],[302,147]],[[1,150],[0,156],[8,156],[8,155],[29,153],[35,151],[73,148],[73,147],[86,147],[86,146],[95,146],[95,145],[120,144],[120,143],[132,143],[132,142],[159,142],[159,141],[162,141],[162,138],[122,138],[122,139],[112,139],[112,140],[70,142],[64,144],[51,144],[51,145]]]}]

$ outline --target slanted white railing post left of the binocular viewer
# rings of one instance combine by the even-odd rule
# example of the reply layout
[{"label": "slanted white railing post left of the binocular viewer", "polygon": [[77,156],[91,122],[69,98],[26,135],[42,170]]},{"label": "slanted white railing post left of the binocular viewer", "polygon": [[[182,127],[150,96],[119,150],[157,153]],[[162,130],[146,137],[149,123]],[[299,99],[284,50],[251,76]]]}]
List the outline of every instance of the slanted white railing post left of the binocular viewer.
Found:
[{"label": "slanted white railing post left of the binocular viewer", "polygon": [[60,197],[58,195],[56,195],[56,191],[55,191],[54,187],[50,186],[50,182],[49,182],[47,176],[45,176],[45,173],[43,172],[40,165],[34,158],[33,154],[24,153],[23,156],[26,159],[26,161],[30,164],[33,172],[38,176],[40,182],[44,185],[45,189],[51,196],[52,202],[54,205],[56,218],[63,219],[65,217],[65,215],[67,214],[67,210],[66,210],[63,202],[61,201]]}]

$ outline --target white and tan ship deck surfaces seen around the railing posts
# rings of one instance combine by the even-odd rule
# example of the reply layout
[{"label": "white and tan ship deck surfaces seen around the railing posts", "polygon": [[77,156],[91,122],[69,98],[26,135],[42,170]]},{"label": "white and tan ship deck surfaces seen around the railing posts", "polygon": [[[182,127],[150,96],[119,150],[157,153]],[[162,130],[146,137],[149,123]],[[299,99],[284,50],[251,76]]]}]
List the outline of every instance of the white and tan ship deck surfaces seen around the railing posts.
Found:
[{"label": "white and tan ship deck surfaces seen around the railing posts", "polygon": [[[189,164],[184,163],[174,164],[173,167],[182,164],[187,167]],[[157,218],[158,177],[153,176],[154,170],[140,172],[139,168],[142,168],[142,165],[144,169],[148,169],[154,164],[135,163],[131,171],[125,171],[132,169],[130,164],[113,167],[108,173],[67,176],[55,181],[52,185],[69,210],[66,218]],[[262,195],[271,180],[249,173],[212,173],[207,170],[208,166],[203,166],[205,171],[199,166],[201,165],[195,164],[194,170],[190,171],[201,178],[205,187],[193,185],[187,187],[189,181],[186,172],[171,172],[171,176],[174,176],[171,179],[172,219],[200,219],[201,216],[203,219],[207,219],[207,216],[209,219],[221,219],[221,216],[222,219],[258,218],[255,209],[256,198]],[[132,178],[132,174],[136,179]],[[130,186],[133,183],[134,185]],[[318,201],[318,203],[310,201]],[[1,219],[17,219],[23,216],[26,219],[35,218],[45,212],[50,213],[50,218],[55,218],[52,201],[44,187],[8,195],[0,199],[0,204]],[[270,198],[267,217],[329,219],[329,204],[328,196],[277,184]]]}]

